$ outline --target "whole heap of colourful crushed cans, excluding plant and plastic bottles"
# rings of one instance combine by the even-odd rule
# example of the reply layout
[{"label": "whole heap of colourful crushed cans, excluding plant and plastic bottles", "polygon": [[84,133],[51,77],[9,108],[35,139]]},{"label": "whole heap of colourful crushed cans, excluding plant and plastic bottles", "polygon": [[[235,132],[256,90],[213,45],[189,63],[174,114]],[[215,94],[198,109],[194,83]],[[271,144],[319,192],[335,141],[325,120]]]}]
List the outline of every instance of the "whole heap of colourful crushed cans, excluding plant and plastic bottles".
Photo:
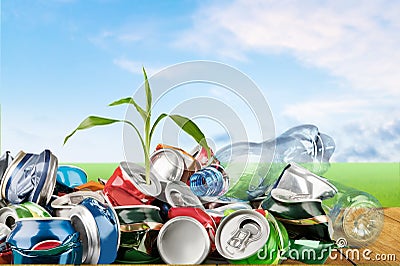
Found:
[{"label": "whole heap of colourful crushed cans, excluding plant and plastic bottles", "polygon": [[[191,177],[208,161],[200,146],[188,153],[160,144],[150,182],[132,162],[121,162],[107,180],[88,181],[83,169],[58,165],[49,150],[15,158],[7,152],[0,165],[0,263],[277,264],[307,248],[304,238],[318,240],[319,252],[335,247],[320,207],[337,192],[326,179],[289,163],[262,198],[205,200],[193,193]],[[306,200],[293,204],[296,197]]]}]

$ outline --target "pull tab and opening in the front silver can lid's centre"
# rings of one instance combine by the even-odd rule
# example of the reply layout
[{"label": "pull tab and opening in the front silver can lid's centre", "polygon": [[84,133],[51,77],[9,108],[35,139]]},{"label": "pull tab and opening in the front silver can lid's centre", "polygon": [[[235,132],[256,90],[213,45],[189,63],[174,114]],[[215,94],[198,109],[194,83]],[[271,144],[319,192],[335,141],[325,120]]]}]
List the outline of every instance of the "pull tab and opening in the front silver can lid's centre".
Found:
[{"label": "pull tab and opening in the front silver can lid's centre", "polygon": [[227,241],[226,251],[235,254],[243,251],[251,242],[261,237],[261,227],[253,220],[246,219],[239,224],[239,228]]}]

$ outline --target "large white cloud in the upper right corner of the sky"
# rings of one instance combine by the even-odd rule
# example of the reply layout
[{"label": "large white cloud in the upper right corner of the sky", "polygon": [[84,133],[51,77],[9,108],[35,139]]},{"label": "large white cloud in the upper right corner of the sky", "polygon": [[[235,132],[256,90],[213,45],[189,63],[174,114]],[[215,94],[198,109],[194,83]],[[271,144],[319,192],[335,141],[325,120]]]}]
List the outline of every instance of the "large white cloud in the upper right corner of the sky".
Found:
[{"label": "large white cloud in the upper right corner of the sky", "polygon": [[396,1],[218,2],[199,10],[176,44],[234,59],[288,52],[354,88],[400,95],[396,14]]}]

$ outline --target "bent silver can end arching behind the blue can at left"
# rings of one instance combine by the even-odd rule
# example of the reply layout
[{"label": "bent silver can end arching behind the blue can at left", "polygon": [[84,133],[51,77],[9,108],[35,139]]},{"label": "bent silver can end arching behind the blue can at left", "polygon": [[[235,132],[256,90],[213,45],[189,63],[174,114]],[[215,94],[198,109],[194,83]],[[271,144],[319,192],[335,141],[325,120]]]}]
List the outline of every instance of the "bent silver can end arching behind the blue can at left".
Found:
[{"label": "bent silver can end arching behind the blue can at left", "polygon": [[101,203],[106,204],[104,196],[98,192],[76,191],[54,200],[51,203],[51,208],[53,209],[55,216],[69,218],[69,212],[71,209],[86,198],[93,198]]}]

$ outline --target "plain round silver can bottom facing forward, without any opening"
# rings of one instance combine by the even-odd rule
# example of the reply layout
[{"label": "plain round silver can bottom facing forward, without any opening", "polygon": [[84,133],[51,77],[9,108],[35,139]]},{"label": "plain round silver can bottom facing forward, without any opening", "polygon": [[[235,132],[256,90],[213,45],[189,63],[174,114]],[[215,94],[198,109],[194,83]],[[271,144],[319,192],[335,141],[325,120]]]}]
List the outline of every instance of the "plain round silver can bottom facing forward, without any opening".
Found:
[{"label": "plain round silver can bottom facing forward, without any opening", "polygon": [[157,247],[168,264],[200,264],[210,253],[210,237],[196,219],[178,216],[161,228]]}]

